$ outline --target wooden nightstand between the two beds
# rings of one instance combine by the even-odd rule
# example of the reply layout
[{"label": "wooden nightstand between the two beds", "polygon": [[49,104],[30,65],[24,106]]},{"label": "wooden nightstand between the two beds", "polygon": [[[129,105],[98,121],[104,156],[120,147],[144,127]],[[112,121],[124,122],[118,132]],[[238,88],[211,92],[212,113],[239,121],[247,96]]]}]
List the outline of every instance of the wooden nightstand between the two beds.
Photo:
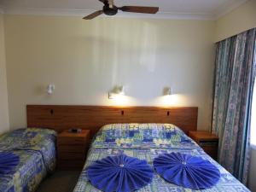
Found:
[{"label": "wooden nightstand between the two beds", "polygon": [[90,130],[80,133],[62,131],[57,137],[57,167],[61,170],[82,169],[90,144]]}]

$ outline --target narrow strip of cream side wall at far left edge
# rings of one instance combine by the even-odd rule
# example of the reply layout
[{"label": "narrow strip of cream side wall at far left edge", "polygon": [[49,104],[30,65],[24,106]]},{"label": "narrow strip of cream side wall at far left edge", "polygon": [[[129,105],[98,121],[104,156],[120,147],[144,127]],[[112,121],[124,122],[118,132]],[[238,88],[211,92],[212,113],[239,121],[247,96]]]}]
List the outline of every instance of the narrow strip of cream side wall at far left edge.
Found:
[{"label": "narrow strip of cream side wall at far left edge", "polygon": [[9,130],[3,14],[0,13],[0,134]]}]

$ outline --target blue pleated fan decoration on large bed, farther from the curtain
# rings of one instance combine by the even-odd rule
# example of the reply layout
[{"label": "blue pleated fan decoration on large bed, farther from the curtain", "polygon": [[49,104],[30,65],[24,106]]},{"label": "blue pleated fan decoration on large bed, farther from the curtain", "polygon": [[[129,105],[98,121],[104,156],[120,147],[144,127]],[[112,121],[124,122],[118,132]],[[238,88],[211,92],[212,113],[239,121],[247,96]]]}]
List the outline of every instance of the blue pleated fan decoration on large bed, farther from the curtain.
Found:
[{"label": "blue pleated fan decoration on large bed, farther from the curtain", "polygon": [[153,170],[146,160],[125,154],[96,160],[87,168],[90,183],[108,192],[129,192],[143,188],[152,181]]}]

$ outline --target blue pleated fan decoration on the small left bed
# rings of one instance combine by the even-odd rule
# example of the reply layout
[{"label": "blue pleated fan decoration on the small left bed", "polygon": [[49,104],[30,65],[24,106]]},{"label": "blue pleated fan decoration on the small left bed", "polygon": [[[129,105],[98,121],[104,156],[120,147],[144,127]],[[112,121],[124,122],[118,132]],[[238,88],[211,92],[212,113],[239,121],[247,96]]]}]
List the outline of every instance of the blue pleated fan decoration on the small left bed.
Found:
[{"label": "blue pleated fan decoration on the small left bed", "polygon": [[0,174],[8,174],[20,163],[18,155],[10,152],[0,152]]}]

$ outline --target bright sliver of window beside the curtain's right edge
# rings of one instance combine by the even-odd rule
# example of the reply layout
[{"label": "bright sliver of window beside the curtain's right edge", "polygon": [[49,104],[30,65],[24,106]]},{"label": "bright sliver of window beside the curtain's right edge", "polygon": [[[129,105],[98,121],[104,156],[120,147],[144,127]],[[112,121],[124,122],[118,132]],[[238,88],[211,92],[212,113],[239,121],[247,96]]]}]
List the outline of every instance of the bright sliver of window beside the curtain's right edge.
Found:
[{"label": "bright sliver of window beside the curtain's right edge", "polygon": [[253,90],[253,106],[252,106],[252,121],[251,121],[251,145],[256,148],[256,81]]}]

